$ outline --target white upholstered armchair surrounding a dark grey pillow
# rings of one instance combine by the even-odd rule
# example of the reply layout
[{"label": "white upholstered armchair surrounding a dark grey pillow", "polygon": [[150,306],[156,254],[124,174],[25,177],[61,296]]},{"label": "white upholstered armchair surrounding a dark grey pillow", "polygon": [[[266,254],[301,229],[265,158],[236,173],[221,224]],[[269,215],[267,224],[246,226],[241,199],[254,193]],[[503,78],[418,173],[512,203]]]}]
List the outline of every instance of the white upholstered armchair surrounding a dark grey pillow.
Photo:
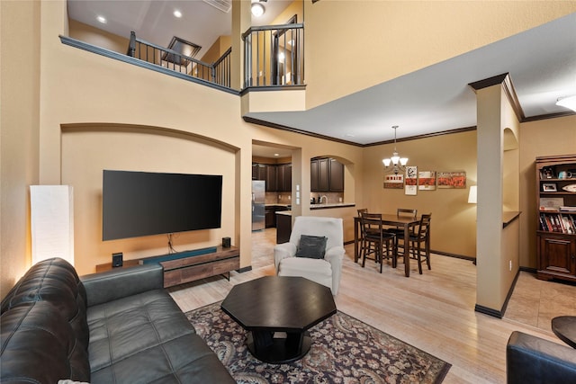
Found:
[{"label": "white upholstered armchair surrounding a dark grey pillow", "polygon": [[[327,237],[323,259],[295,257],[302,235]],[[338,293],[344,259],[344,230],[342,219],[298,216],[290,241],[275,246],[274,262],[278,276],[301,276],[329,287]]]}]

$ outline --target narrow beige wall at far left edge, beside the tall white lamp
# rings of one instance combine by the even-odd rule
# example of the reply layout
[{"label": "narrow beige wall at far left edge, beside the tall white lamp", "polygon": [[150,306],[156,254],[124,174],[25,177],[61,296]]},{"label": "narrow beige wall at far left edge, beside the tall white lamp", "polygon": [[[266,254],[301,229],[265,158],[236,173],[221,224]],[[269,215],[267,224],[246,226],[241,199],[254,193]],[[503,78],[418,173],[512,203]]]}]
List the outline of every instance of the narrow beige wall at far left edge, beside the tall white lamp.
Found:
[{"label": "narrow beige wall at far left edge, beside the tall white lamp", "polygon": [[31,263],[29,185],[38,183],[40,3],[0,2],[0,297]]}]

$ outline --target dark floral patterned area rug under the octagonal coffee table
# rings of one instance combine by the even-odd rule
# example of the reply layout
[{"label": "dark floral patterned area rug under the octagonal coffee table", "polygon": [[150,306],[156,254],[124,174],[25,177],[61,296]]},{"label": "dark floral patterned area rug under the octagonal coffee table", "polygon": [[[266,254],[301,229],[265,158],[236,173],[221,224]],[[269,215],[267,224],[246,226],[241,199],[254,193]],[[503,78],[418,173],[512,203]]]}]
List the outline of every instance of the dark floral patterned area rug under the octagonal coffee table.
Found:
[{"label": "dark floral patterned area rug under the octagonal coffee table", "polygon": [[279,365],[248,352],[247,331],[220,302],[186,317],[238,383],[440,383],[451,367],[340,311],[309,330],[312,346],[306,356]]}]

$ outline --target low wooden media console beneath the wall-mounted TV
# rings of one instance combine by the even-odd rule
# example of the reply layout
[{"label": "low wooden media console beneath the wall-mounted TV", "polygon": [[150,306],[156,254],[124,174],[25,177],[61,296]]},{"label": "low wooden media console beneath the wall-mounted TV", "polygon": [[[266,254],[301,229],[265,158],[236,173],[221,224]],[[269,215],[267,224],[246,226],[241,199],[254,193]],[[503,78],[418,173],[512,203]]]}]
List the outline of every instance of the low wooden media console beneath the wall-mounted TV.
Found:
[{"label": "low wooden media console beneath the wall-mounted TV", "polygon": [[[143,263],[160,263],[164,267],[164,288],[190,281],[229,273],[240,268],[240,251],[236,246],[214,246],[195,251],[124,261],[120,268]],[[112,263],[96,265],[96,272],[112,269]]]}]

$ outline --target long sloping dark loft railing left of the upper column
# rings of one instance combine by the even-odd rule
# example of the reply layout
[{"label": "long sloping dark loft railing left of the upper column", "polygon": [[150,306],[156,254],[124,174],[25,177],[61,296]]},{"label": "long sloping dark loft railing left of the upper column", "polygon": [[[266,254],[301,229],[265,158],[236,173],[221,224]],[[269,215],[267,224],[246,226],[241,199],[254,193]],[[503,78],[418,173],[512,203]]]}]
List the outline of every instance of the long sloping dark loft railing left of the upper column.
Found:
[{"label": "long sloping dark loft railing left of the upper column", "polygon": [[138,58],[158,67],[165,67],[185,74],[202,78],[211,83],[230,87],[230,52],[228,49],[213,64],[205,63],[196,58],[190,58],[172,49],[160,47],[151,42],[138,39],[136,33],[130,33],[128,56]]}]

